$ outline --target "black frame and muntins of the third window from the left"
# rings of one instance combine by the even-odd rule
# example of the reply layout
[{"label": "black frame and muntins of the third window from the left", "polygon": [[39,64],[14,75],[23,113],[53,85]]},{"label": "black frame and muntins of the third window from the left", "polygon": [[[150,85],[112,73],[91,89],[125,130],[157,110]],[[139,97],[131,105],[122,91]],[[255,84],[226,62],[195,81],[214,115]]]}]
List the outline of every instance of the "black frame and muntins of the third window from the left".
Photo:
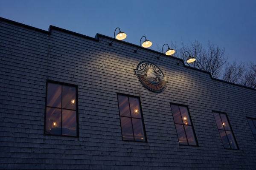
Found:
[{"label": "black frame and muntins of the third window from the left", "polygon": [[[192,119],[191,119],[191,116],[190,116],[189,106],[183,105],[183,104],[177,104],[177,103],[172,103],[172,102],[170,102],[171,111],[172,111],[172,106],[171,106],[171,105],[176,105],[176,106],[179,106],[179,107],[182,106],[182,107],[186,107],[186,108],[187,108],[188,114],[189,114],[189,119],[190,119],[190,122],[191,122],[191,127],[192,127],[192,129],[193,129],[193,133],[194,133],[194,137],[195,137],[195,143],[196,143],[196,145],[189,145],[189,142],[188,142],[188,139],[187,139],[187,135],[186,135],[186,139],[187,139],[188,144],[180,144],[180,142],[179,142],[179,137],[178,137],[178,132],[177,132],[177,129],[176,129],[176,126],[175,126],[175,124],[178,124],[178,123],[175,123],[175,122],[174,122],[174,116],[173,116],[173,112],[172,112],[173,122],[174,122],[174,126],[175,126],[175,130],[176,130],[176,134],[177,134],[177,139],[178,139],[179,145],[180,145],[180,146],[199,147],[198,140],[197,140],[197,137],[196,137],[196,135],[195,135],[195,128],[194,128],[194,125],[193,125],[193,122],[192,122]],[[180,108],[179,108],[179,109],[180,109]],[[178,124],[178,125],[181,125],[181,124]],[[185,129],[184,129],[184,131],[185,131],[185,133],[186,133],[186,130],[185,130]]]}]

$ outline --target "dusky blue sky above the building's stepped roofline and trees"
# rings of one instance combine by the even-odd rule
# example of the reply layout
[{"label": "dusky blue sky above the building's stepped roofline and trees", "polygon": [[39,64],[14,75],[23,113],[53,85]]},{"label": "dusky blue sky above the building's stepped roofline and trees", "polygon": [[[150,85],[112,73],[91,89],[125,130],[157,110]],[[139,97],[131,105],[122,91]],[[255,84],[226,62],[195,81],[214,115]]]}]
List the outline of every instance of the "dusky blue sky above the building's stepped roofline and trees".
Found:
[{"label": "dusky blue sky above the building's stepped roofline and trees", "polygon": [[229,61],[256,64],[256,0],[0,0],[0,17],[47,30],[49,25],[90,37],[113,37],[140,45],[145,35],[152,49],[176,41],[208,40],[226,49]]}]

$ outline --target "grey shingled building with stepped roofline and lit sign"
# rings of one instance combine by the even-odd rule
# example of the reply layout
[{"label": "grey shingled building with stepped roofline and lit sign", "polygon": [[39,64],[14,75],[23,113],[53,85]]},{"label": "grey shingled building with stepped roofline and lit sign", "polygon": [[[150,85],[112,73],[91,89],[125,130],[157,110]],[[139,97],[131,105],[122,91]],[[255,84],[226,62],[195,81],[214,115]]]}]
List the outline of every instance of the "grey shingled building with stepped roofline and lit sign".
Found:
[{"label": "grey shingled building with stepped roofline and lit sign", "polygon": [[112,40],[0,18],[0,169],[256,169],[255,89]]}]

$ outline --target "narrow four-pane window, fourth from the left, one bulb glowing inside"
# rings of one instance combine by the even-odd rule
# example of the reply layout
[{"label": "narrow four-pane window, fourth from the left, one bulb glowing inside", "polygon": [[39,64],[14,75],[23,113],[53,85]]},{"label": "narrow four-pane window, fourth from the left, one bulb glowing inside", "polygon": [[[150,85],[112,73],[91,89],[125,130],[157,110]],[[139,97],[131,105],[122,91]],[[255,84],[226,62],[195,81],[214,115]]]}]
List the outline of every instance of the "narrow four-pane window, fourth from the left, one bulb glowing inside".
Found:
[{"label": "narrow four-pane window, fourth from the left, one bulb glowing inside", "polygon": [[221,140],[226,149],[238,149],[227,115],[213,112]]}]

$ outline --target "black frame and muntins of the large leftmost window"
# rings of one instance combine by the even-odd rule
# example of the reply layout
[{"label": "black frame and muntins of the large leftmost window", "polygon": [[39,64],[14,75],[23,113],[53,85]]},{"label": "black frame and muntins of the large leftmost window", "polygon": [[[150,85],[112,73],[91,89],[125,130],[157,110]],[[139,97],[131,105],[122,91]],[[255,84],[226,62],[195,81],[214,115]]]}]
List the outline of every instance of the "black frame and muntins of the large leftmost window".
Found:
[{"label": "black frame and muntins of the large leftmost window", "polygon": [[[67,85],[71,87],[76,88],[76,136],[70,136],[70,135],[55,135],[55,134],[48,134],[46,133],[46,114],[47,114],[47,93],[48,93],[48,83],[54,83],[61,85],[61,111],[62,111],[62,86]],[[45,104],[44,104],[44,135],[47,136],[64,136],[64,137],[72,137],[72,138],[78,138],[79,137],[79,119],[78,119],[78,86],[77,85],[72,85],[69,83],[64,83],[64,82],[57,82],[57,81],[52,81],[52,80],[47,80],[46,81],[46,92],[45,92]],[[53,107],[55,108],[55,107]],[[70,109],[67,109],[70,110]],[[72,110],[74,111],[74,110]],[[61,112],[61,129],[62,129],[62,112]]]}]

